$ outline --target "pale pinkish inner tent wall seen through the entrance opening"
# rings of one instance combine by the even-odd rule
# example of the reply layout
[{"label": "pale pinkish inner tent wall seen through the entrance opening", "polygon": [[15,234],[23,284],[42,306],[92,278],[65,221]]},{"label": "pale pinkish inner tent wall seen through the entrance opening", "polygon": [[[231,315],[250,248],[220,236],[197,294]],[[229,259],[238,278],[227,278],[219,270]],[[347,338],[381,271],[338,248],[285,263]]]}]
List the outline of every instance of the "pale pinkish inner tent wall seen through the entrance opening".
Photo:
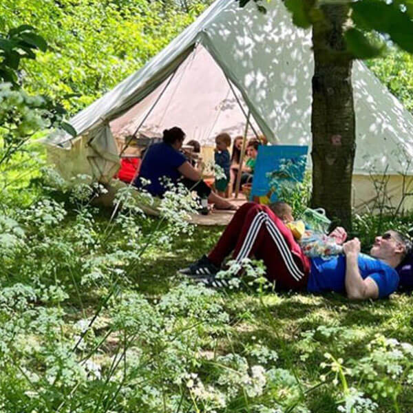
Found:
[{"label": "pale pinkish inner tent wall seen through the entrance opening", "polygon": [[[162,131],[181,127],[187,140],[201,146],[214,146],[221,132],[242,135],[248,107],[242,94],[226,78],[211,54],[198,44],[192,54],[151,94],[110,123],[118,142],[141,132],[162,136]],[[261,134],[251,117],[251,134]],[[121,149],[120,149],[121,150]]]}]

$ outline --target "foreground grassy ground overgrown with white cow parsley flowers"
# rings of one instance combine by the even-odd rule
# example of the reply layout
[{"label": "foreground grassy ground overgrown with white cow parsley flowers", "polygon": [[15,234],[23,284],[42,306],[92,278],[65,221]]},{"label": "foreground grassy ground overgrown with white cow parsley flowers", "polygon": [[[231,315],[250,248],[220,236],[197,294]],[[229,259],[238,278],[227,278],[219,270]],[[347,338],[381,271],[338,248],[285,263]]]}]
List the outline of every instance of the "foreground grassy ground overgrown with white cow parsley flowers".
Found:
[{"label": "foreground grassy ground overgrown with white cow parsley flowers", "polygon": [[208,290],[177,270],[222,228],[164,241],[161,226],[128,261],[157,220],[125,215],[108,237],[109,211],[30,211],[23,249],[1,258],[0,411],[413,410],[412,297]]}]

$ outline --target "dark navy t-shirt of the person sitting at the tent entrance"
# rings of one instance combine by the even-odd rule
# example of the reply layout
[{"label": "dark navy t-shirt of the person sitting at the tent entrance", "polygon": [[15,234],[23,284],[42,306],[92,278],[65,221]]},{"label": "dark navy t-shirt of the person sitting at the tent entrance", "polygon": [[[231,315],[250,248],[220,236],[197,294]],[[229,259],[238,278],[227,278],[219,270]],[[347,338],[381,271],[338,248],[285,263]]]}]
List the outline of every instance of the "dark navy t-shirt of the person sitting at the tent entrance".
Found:
[{"label": "dark navy t-shirt of the person sitting at the tent entrance", "polygon": [[187,161],[182,153],[165,142],[151,145],[145,153],[140,165],[139,176],[134,181],[138,188],[142,187],[140,178],[150,180],[151,183],[145,189],[152,195],[163,195],[167,190],[160,182],[160,178],[166,177],[176,184],[181,174],[178,168]]}]

